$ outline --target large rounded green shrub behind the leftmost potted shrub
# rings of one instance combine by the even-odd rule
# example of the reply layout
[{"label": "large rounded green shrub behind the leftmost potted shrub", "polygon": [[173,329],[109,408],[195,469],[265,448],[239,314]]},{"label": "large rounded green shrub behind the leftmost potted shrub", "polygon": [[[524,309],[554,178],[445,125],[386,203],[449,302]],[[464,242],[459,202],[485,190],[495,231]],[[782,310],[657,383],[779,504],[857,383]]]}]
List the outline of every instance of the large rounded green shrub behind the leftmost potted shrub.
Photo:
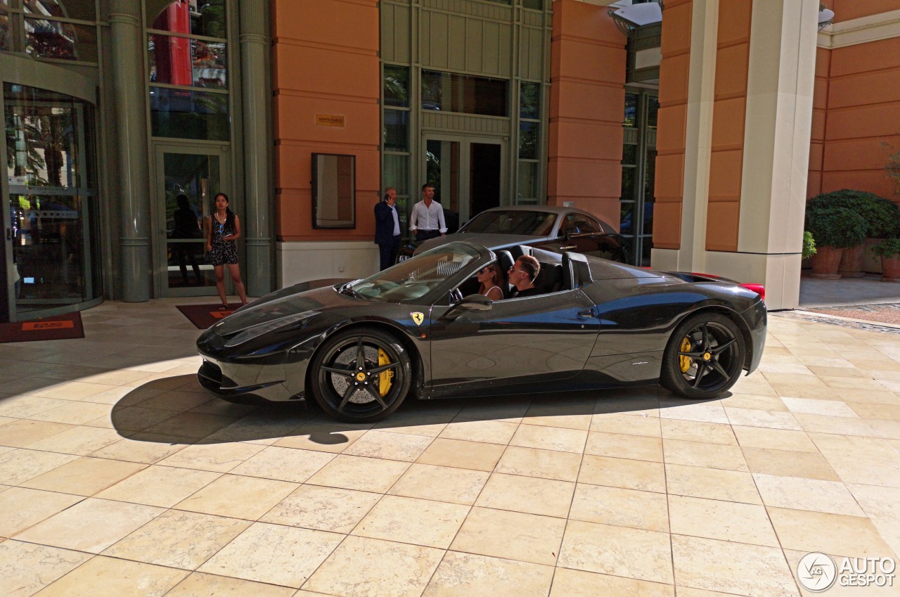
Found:
[{"label": "large rounded green shrub behind the leftmost potted shrub", "polygon": [[[867,239],[883,239],[889,236],[896,230],[897,222],[900,222],[900,207],[893,201],[874,193],[852,189],[841,189],[816,195],[809,200],[806,213],[833,208],[859,213],[866,221]],[[845,277],[862,276],[866,249],[875,242],[877,241],[864,240],[857,246],[845,248],[839,267],[841,275]],[[870,270],[869,267],[867,267],[867,271]]]}]

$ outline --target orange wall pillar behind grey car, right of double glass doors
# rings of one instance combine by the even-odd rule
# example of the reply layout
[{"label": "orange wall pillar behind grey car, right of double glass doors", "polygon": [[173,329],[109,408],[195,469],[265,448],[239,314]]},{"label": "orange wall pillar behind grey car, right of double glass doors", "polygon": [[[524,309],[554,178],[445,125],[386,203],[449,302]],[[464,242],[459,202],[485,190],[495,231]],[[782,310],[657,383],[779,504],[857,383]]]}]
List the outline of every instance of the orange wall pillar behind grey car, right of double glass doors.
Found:
[{"label": "orange wall pillar behind grey car, right of double glass doors", "polygon": [[626,38],[606,7],[555,0],[547,203],[619,222]]}]

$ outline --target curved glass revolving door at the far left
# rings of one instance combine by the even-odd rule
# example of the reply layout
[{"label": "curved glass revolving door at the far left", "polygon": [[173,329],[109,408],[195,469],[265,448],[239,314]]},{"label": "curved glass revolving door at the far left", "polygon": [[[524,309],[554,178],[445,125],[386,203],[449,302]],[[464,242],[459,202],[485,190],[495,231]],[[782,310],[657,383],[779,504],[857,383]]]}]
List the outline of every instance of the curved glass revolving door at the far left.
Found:
[{"label": "curved glass revolving door at the far left", "polygon": [[[100,287],[91,106],[35,87],[4,83],[8,194],[4,224],[10,258],[10,317],[67,311]],[[8,218],[8,220],[7,220]]]}]

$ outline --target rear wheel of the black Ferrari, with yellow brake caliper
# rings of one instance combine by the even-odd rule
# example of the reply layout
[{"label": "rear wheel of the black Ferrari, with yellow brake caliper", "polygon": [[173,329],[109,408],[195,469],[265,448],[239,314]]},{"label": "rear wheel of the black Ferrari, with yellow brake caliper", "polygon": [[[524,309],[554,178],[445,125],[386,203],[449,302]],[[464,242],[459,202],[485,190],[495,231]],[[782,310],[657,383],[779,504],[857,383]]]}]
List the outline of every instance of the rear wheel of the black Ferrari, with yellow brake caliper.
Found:
[{"label": "rear wheel of the black Ferrari, with yellow brake caliper", "polygon": [[722,313],[698,313],[672,332],[662,355],[660,384],[685,398],[715,398],[741,376],[746,354],[734,321]]}]

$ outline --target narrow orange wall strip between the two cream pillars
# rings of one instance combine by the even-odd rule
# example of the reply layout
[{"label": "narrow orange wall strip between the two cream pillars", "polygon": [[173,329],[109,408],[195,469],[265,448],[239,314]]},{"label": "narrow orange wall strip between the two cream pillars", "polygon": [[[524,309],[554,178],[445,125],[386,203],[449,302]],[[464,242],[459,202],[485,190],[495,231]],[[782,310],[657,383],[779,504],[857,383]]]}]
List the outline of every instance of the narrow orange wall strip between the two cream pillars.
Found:
[{"label": "narrow orange wall strip between the two cream pillars", "polygon": [[719,5],[707,250],[737,250],[751,11],[752,0],[729,0]]}]

